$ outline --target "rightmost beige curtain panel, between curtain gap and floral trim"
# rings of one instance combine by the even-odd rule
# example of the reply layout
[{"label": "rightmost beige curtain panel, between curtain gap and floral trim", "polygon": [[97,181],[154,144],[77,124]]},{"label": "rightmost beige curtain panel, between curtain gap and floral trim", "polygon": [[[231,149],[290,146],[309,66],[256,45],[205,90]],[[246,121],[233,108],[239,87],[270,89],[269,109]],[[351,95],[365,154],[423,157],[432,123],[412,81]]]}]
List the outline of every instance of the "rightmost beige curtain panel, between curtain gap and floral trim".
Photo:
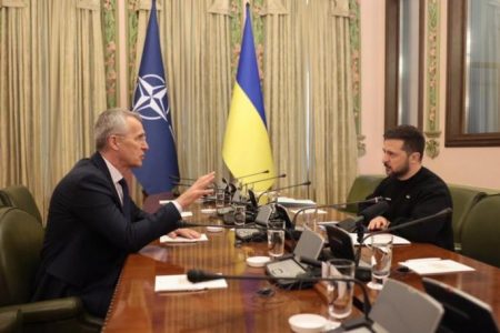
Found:
[{"label": "rightmost beige curtain panel, between curtain gap and floral trim", "polygon": [[342,202],[357,174],[348,0],[309,1],[311,181],[318,202]]}]

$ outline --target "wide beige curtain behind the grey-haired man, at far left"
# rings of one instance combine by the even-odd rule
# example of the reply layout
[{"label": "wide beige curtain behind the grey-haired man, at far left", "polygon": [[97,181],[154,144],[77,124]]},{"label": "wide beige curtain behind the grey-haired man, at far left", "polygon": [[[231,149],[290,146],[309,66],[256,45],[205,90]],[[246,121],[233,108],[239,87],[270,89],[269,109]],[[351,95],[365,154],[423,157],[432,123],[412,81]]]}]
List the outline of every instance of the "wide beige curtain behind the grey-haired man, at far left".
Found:
[{"label": "wide beige curtain behind the grey-haired man, at far left", "polygon": [[9,3],[22,6],[0,8],[0,186],[27,185],[46,216],[106,109],[100,1]]}]

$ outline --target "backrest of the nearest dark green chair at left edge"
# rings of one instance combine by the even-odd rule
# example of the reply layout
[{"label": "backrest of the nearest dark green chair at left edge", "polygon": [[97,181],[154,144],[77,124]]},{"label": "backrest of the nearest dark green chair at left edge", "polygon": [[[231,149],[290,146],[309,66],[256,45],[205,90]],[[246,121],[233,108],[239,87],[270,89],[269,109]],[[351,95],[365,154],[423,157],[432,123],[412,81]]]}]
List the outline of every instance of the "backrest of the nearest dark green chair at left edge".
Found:
[{"label": "backrest of the nearest dark green chair at left edge", "polygon": [[40,263],[42,225],[17,208],[0,208],[0,306],[27,303]]}]

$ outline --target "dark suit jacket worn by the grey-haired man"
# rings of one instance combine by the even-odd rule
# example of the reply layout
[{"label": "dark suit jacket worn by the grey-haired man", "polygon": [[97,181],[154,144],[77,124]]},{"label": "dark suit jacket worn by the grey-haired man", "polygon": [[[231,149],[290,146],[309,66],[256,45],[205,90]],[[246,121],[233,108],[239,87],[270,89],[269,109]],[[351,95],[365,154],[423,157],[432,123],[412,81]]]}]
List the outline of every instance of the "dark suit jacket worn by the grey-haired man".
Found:
[{"label": "dark suit jacket worn by the grey-haired man", "polygon": [[123,213],[99,153],[79,161],[50,201],[33,301],[78,295],[104,316],[127,255],[177,229],[173,204],[148,214],[133,202]]}]

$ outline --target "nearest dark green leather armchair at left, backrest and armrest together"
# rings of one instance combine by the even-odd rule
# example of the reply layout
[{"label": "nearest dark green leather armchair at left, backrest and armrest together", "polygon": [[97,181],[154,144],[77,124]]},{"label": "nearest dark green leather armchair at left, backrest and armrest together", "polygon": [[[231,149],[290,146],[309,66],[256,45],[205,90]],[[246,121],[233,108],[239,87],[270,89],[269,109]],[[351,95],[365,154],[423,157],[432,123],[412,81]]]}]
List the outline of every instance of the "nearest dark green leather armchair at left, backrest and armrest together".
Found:
[{"label": "nearest dark green leather armchair at left, backrest and armrest together", "polygon": [[83,311],[78,297],[30,303],[43,228],[18,208],[0,208],[0,313],[20,311],[22,332],[99,332],[102,321]]}]

